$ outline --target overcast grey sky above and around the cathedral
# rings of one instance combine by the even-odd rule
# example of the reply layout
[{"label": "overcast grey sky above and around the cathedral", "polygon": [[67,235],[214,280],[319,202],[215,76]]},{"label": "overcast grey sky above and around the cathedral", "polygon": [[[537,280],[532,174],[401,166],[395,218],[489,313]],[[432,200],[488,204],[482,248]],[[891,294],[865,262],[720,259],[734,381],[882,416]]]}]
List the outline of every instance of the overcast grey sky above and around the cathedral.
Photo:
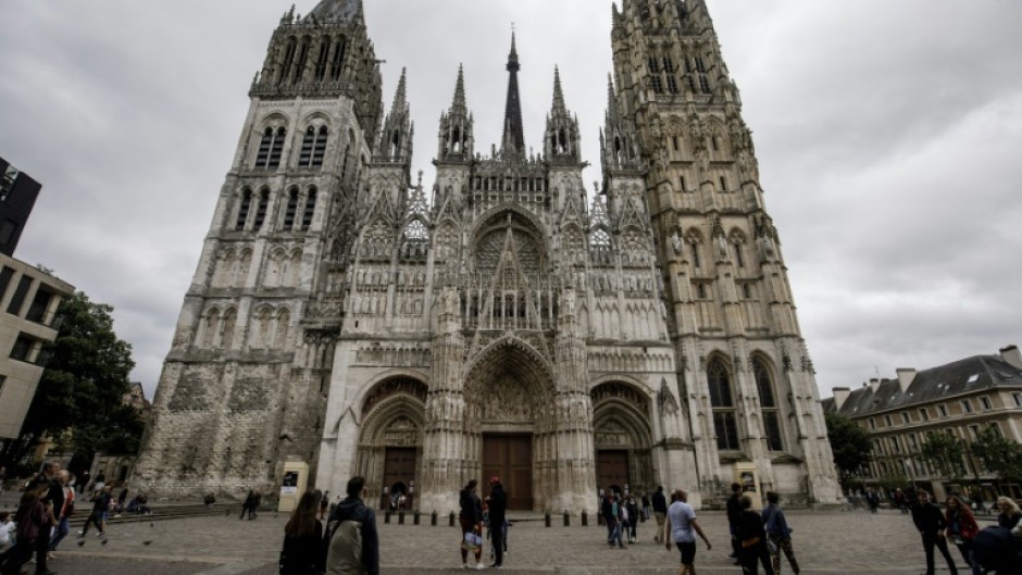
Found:
[{"label": "overcast grey sky above and around the cathedral", "polygon": [[[599,166],[609,1],[364,1],[388,108],[408,67],[414,170],[427,186],[459,63],[476,149],[499,141],[512,23],[526,143],[540,148],[558,65],[583,153]],[[115,308],[133,378],[150,398],[249,84],[288,7],[4,2],[0,155],[43,185],[15,255]],[[1022,2],[709,8],[821,396],[877,371],[893,377],[1022,345]],[[586,182],[599,177],[587,170]]]}]

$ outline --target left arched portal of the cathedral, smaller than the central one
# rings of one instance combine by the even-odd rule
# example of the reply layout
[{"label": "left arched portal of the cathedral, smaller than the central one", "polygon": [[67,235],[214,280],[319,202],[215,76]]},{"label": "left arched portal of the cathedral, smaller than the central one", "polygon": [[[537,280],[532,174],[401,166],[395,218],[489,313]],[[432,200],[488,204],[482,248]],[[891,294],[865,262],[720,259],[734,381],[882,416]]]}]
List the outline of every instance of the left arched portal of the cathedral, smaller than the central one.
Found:
[{"label": "left arched portal of the cathedral, smaller than the central one", "polygon": [[414,508],[421,468],[427,387],[417,379],[395,377],[377,384],[362,402],[358,474],[365,477],[367,502],[379,509],[397,504],[400,486],[407,509]]}]

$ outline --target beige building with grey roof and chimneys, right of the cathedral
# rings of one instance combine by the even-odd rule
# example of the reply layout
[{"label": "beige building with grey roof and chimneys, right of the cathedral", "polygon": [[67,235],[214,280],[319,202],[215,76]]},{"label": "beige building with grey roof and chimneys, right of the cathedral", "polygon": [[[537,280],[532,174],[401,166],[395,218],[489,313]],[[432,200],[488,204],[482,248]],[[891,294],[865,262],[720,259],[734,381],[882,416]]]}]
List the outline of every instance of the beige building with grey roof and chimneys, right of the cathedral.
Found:
[{"label": "beige building with grey roof and chimneys, right of the cathedral", "polygon": [[[897,377],[870,379],[853,390],[835,387],[823,407],[872,437],[872,461],[862,472],[865,484],[911,483],[942,501],[977,486],[987,502],[998,495],[1022,499],[1022,486],[1001,480],[970,449],[986,428],[1022,443],[1022,352],[1017,346],[926,370],[900,368]],[[949,434],[962,446],[961,461],[954,462],[957,477],[947,475],[948,465],[924,457],[923,447],[934,434]]]}]

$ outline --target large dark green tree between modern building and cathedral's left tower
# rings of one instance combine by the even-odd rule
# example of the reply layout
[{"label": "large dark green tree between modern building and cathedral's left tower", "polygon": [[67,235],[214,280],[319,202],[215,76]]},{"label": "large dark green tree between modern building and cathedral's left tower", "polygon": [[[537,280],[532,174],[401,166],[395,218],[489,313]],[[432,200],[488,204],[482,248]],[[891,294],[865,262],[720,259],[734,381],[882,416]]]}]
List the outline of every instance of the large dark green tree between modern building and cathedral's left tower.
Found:
[{"label": "large dark green tree between modern building and cathedral's left tower", "polygon": [[77,291],[57,311],[60,333],[43,348],[49,360],[21,435],[4,442],[0,465],[11,468],[49,435],[74,453],[72,471],[87,468],[97,451],[134,453],[144,424],[122,398],[135,366],[132,346],[113,330],[113,308]]}]

